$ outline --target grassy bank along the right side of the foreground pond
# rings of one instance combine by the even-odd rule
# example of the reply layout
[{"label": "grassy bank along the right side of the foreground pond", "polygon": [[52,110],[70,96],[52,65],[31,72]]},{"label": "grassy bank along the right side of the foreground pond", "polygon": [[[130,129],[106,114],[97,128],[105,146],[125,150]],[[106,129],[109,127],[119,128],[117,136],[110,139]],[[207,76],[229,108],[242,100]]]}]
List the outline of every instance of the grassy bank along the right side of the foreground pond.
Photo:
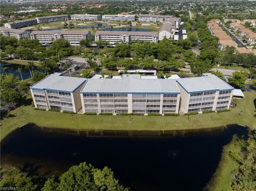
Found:
[{"label": "grassy bank along the right side of the foreground pond", "polygon": [[218,165],[217,170],[214,172],[209,184],[205,187],[205,190],[211,191],[232,191],[231,181],[233,180],[232,171],[238,168],[239,164],[231,159],[229,152],[238,153],[241,150],[241,147],[234,137],[233,140],[223,147],[221,160]]}]

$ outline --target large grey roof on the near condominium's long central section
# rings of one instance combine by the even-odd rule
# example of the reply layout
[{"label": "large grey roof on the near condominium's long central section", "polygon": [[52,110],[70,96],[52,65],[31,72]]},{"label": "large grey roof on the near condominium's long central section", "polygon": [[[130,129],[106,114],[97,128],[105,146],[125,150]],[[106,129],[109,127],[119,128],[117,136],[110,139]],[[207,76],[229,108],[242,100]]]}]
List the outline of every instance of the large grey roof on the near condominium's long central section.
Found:
[{"label": "large grey roof on the near condominium's long central section", "polygon": [[139,74],[123,74],[122,79],[88,79],[81,93],[177,93],[175,80],[141,79]]}]

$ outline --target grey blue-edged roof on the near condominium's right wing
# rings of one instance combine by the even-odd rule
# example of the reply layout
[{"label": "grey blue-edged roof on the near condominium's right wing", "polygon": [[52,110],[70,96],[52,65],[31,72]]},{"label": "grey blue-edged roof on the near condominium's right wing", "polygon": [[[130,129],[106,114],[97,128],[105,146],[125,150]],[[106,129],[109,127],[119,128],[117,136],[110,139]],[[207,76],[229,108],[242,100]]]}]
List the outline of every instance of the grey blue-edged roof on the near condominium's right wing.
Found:
[{"label": "grey blue-edged roof on the near condominium's right wing", "polygon": [[227,82],[211,73],[203,73],[202,77],[181,78],[176,81],[188,93],[234,89]]}]

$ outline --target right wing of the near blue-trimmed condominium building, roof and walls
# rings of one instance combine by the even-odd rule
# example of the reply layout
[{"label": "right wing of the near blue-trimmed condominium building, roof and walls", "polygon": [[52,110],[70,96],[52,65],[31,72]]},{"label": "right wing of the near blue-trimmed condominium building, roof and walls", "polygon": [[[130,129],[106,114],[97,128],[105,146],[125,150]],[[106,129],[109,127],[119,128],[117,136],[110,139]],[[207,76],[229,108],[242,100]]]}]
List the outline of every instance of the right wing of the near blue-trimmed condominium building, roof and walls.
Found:
[{"label": "right wing of the near blue-trimmed condominium building, roof and walls", "polygon": [[211,73],[176,80],[180,89],[180,112],[229,109],[234,88]]}]

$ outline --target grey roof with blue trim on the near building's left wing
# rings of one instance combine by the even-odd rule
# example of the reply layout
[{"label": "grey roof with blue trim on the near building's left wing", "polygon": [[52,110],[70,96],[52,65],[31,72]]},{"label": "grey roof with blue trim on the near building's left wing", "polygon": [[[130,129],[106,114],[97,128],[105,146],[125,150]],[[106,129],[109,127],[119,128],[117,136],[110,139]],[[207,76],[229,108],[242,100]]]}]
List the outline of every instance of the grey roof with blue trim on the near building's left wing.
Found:
[{"label": "grey roof with blue trim on the near building's left wing", "polygon": [[87,79],[60,76],[61,73],[53,73],[37,82],[31,89],[48,89],[48,90],[60,90],[63,92],[74,92],[80,85],[82,85]]}]

